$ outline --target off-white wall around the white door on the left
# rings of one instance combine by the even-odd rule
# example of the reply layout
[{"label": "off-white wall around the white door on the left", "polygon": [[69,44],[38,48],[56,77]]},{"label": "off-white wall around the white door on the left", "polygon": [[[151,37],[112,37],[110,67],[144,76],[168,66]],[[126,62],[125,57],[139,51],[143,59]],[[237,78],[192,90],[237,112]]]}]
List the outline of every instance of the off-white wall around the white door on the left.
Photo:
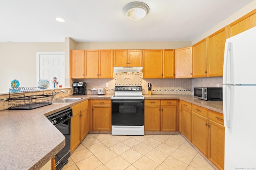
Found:
[{"label": "off-white wall around the white door on the left", "polygon": [[44,51],[65,51],[65,43],[0,43],[0,93],[9,92],[14,79],[20,87],[37,87],[36,52]]}]

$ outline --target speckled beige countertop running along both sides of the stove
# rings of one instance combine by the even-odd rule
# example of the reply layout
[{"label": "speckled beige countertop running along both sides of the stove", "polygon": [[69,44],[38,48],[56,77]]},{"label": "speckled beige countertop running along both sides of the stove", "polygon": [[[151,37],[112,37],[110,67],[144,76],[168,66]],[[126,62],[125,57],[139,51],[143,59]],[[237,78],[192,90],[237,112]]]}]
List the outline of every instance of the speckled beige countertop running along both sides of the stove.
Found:
[{"label": "speckled beige countertop running along both sides of the stove", "polygon": [[[46,116],[88,99],[111,99],[113,94],[68,96],[82,98],[76,102],[32,110],[0,111],[0,169],[37,170],[65,145],[65,138]],[[145,99],[180,99],[223,113],[222,102],[207,102],[192,95],[143,95]]]}]

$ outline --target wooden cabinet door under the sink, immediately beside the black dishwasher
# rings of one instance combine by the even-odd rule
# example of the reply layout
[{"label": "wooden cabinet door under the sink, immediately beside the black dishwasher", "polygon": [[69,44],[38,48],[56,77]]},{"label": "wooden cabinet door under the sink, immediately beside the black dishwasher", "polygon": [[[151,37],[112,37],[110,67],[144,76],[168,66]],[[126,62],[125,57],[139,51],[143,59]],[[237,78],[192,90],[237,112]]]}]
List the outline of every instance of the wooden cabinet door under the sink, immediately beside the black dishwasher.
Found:
[{"label": "wooden cabinet door under the sink, immediately beside the black dishwasher", "polygon": [[71,117],[71,128],[70,128],[70,134],[71,134],[71,153],[74,152],[76,147],[80,144],[80,111],[73,114],[73,117]]}]

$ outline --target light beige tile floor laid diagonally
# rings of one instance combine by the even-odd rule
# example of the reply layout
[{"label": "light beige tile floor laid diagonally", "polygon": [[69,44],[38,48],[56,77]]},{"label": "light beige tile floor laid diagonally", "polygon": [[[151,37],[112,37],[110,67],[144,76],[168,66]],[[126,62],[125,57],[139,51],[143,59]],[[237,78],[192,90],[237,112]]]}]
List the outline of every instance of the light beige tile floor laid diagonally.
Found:
[{"label": "light beige tile floor laid diagonally", "polygon": [[214,170],[182,135],[89,134],[64,170]]}]

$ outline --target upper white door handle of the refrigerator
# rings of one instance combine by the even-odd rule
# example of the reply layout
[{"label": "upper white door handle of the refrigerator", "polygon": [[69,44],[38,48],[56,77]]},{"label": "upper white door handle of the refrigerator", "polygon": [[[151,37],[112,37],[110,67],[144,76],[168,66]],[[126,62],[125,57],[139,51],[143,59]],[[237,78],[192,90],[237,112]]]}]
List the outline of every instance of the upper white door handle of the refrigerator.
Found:
[{"label": "upper white door handle of the refrigerator", "polygon": [[224,67],[223,67],[223,84],[230,84],[231,78],[231,42],[226,42],[225,44],[225,53],[224,53]]}]

